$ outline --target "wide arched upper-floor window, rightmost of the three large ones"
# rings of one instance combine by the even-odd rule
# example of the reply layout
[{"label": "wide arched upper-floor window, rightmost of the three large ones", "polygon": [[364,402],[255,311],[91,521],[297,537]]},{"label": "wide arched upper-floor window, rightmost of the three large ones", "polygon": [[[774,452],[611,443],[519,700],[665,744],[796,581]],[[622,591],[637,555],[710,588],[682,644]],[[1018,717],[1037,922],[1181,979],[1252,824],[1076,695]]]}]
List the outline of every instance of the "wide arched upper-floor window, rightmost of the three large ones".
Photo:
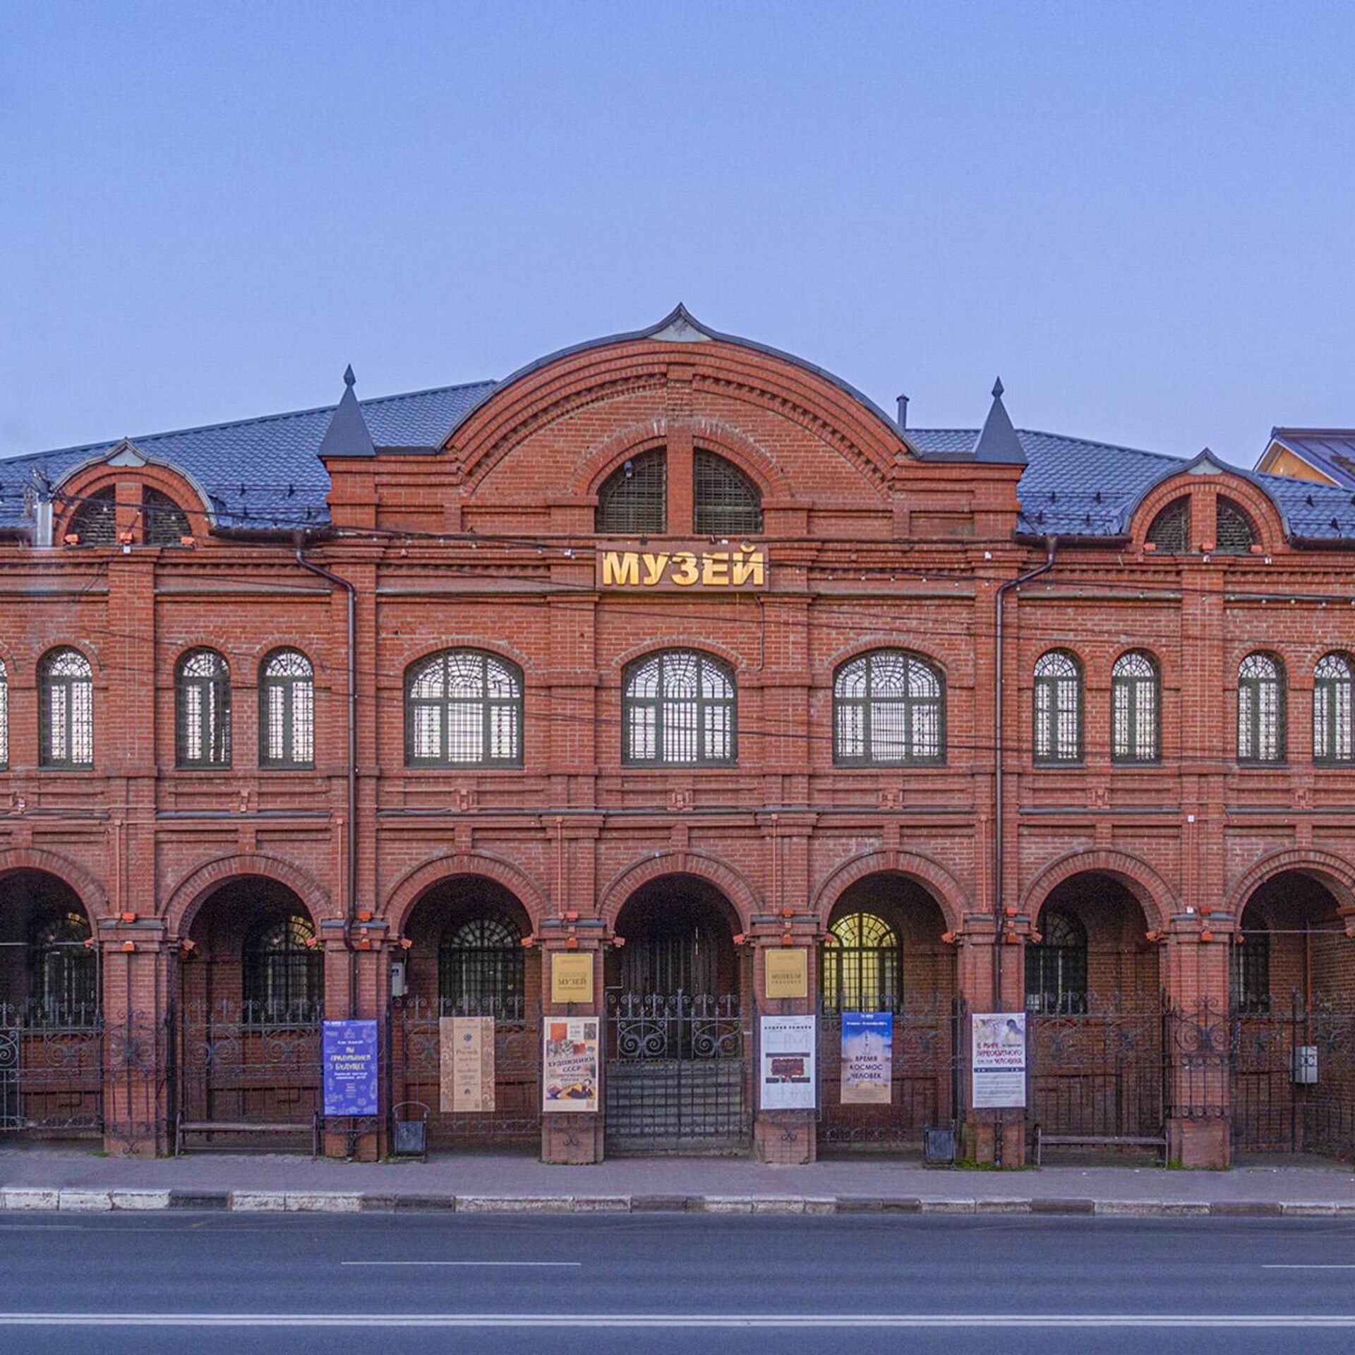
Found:
[{"label": "wide arched upper-floor window, rightmost of the three large ones", "polygon": [[904,649],[877,649],[833,678],[833,760],[843,767],[935,764],[946,757],[940,669]]}]

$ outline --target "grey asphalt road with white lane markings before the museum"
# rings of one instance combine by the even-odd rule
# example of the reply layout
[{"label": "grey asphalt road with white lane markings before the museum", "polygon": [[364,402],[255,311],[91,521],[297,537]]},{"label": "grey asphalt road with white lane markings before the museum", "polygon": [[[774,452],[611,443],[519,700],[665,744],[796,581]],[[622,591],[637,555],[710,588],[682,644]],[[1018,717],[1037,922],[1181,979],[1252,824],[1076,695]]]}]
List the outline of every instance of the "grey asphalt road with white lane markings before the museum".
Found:
[{"label": "grey asphalt road with white lane markings before the museum", "polygon": [[1355,1350],[1355,1224],[0,1218],[0,1351]]}]

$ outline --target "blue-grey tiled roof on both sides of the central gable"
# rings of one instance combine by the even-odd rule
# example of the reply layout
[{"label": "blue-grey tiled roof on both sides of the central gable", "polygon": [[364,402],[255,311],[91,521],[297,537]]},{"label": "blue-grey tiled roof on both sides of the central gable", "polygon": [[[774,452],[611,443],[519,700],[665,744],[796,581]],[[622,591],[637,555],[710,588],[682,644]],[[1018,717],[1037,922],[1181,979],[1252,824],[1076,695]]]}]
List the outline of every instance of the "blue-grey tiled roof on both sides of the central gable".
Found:
[{"label": "blue-grey tiled roof on both sides of the central gable", "polygon": [[[493,390],[495,382],[440,386],[360,401],[381,447],[435,447],[451,425]],[[131,442],[148,457],[192,478],[210,497],[221,526],[295,527],[328,520],[329,480],[317,453],[333,408],[302,409],[238,423],[150,434]],[[963,457],[977,428],[909,428],[923,457]],[[1085,438],[1018,430],[1026,453],[1020,478],[1023,526],[1031,533],[1076,537],[1122,534],[1142,496],[1190,462],[1156,451],[1117,447]],[[0,527],[24,523],[23,489],[34,467],[58,482],[72,467],[118,443],[89,443],[0,461]],[[1355,541],[1355,495],[1350,489],[1238,472],[1276,503],[1295,537]]]}]

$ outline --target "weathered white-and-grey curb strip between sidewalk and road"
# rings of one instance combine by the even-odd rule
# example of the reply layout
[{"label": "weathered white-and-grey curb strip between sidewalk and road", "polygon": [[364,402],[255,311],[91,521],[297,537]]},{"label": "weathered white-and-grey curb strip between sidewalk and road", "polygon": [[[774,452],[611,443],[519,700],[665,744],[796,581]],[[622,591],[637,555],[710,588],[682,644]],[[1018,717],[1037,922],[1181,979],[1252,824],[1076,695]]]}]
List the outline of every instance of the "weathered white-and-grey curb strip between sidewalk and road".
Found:
[{"label": "weathered white-and-grey curb strip between sidewalk and road", "polygon": [[377,1191],[0,1188],[0,1211],[262,1214],[1042,1214],[1095,1218],[1352,1218],[1355,1201],[881,1198],[862,1195],[420,1195]]}]

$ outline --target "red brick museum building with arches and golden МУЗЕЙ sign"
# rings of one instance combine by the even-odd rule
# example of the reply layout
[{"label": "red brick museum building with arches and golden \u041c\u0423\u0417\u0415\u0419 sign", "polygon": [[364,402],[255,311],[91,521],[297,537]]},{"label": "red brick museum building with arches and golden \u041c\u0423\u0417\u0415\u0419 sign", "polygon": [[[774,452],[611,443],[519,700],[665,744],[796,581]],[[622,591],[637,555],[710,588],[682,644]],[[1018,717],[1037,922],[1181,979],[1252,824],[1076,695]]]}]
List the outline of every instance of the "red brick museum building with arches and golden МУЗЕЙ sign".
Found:
[{"label": "red brick museum building with arches and golden \u041c\u0423\u0417\u0415\u0419 sign", "polygon": [[[909,430],[680,309],[0,478],[3,1129],[280,1134],[363,1016],[382,1110],[332,1150],[411,1102],[550,1160],[1355,1150],[1346,491],[1018,432],[1000,388]],[[841,1104],[856,1009],[888,1103]],[[1027,1014],[1024,1112],[970,1108],[981,1011]],[[785,1014],[816,1110],[760,1108]],[[495,1020],[492,1110],[438,1108],[446,1015]],[[542,1112],[565,1015],[596,1112]]]}]

